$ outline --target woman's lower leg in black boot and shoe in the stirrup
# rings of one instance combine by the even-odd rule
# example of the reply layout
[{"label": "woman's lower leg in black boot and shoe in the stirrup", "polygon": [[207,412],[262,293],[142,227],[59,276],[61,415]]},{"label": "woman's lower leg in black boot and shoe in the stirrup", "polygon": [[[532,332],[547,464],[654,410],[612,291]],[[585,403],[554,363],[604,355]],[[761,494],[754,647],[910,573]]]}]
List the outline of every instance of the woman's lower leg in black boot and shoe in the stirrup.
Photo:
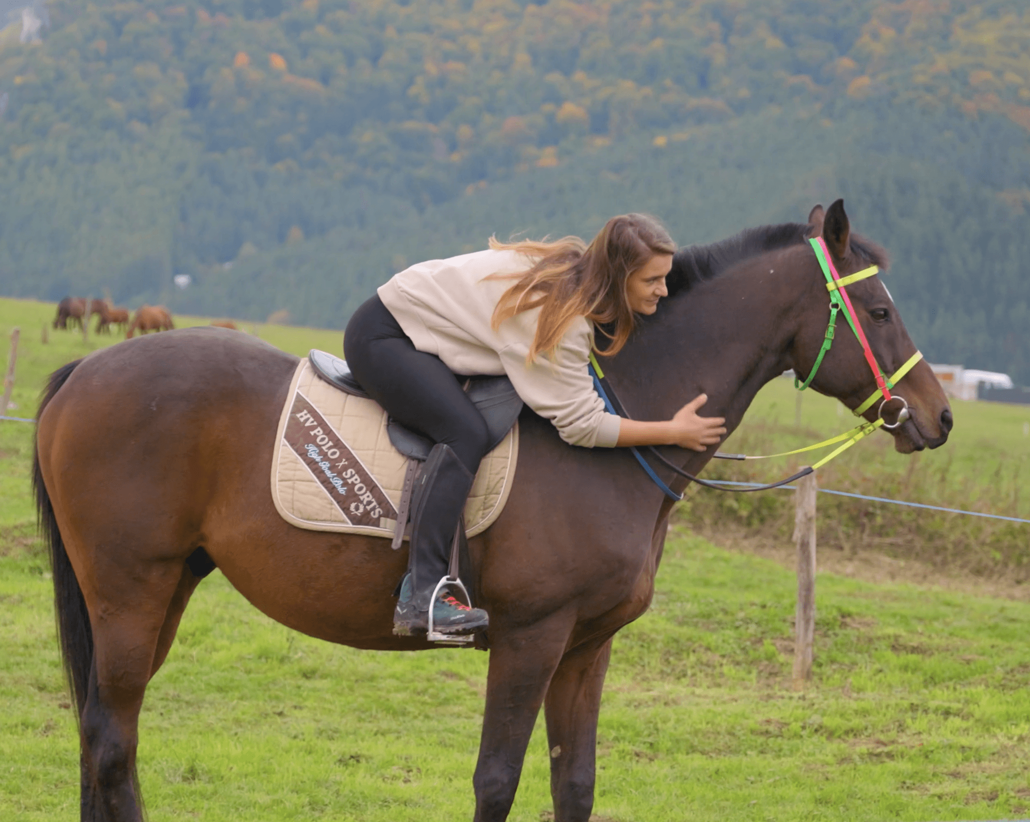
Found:
[{"label": "woman's lower leg in black boot and shoe in the stirrup", "polygon": [[[408,572],[393,612],[393,632],[425,633],[433,590],[447,576],[451,543],[475,477],[449,445],[433,446],[412,496]],[[434,629],[474,633],[488,624],[486,612],[457,602],[445,585],[433,607]]]}]

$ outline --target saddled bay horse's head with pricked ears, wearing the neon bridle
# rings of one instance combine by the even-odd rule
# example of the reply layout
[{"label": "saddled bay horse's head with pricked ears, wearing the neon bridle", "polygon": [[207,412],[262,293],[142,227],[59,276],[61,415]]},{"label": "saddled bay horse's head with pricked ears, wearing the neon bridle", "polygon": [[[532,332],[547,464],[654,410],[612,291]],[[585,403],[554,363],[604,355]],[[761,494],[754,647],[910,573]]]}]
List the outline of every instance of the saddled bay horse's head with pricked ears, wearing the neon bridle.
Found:
[{"label": "saddled bay horse's head with pricked ears, wearing the neon bridle", "polygon": [[[886,254],[881,249],[852,235],[843,200],[837,200],[825,212],[822,206],[816,206],[809,215],[809,224],[812,226],[810,236],[823,238],[842,278],[871,265],[886,268]],[[812,255],[812,261],[813,278],[814,282],[818,282],[818,287],[810,293],[811,299],[798,306],[802,315],[791,351],[794,371],[801,380],[815,367],[823,340],[826,339],[828,322],[829,293],[815,254]],[[905,331],[897,306],[879,276],[848,285],[847,294],[869,347],[883,373],[889,378],[916,352],[916,346]],[[837,317],[833,343],[826,351],[811,384],[820,393],[835,397],[854,410],[877,391],[877,382],[863,348],[843,314],[844,310]],[[918,362],[902,376],[891,393],[903,398],[908,407],[907,419],[903,421],[899,419],[904,407],[900,400],[887,403],[883,408],[883,416],[889,425],[900,421],[900,424],[890,430],[894,436],[894,447],[899,452],[912,453],[926,447],[936,448],[947,442],[953,423],[952,410],[940,383],[925,361]],[[862,416],[870,421],[876,420],[881,413],[882,404],[883,397],[879,396]]]}]

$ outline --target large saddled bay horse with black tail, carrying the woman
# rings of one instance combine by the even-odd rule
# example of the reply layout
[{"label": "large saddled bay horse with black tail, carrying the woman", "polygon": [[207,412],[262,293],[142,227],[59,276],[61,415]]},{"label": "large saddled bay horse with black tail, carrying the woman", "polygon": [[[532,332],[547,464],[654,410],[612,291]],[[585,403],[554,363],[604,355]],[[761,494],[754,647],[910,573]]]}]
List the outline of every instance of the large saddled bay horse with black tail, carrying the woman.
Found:
[{"label": "large saddled bay horse with black tail, carrying the woman", "polygon": [[[703,413],[725,416],[732,431],[763,384],[787,369],[806,376],[829,315],[805,241],[816,235],[842,275],[886,267],[880,248],[852,236],[842,201],[813,209],[808,225],[677,252],[670,296],[605,366],[627,412],[668,419],[705,391]],[[880,366],[893,373],[915,346],[892,300],[878,277],[849,292]],[[876,383],[857,341],[837,336],[813,387],[856,408]],[[269,459],[297,364],[249,335],[198,328],[98,350],[50,376],[34,484],[79,717],[82,820],[140,819],[143,694],[214,568],[265,614],[312,637],[431,647],[391,630],[404,550],[302,530],[276,513]],[[892,432],[896,450],[941,445],[952,412],[930,367],[918,363],[895,390],[911,410]],[[876,414],[873,405],[865,418]],[[612,638],[651,603],[673,503],[627,450],[569,446],[528,410],[519,425],[508,505],[470,541],[478,604],[490,616],[475,820],[508,817],[543,705],[555,820],[586,822]],[[715,446],[663,451],[697,473]],[[674,489],[686,486],[656,470]],[[359,602],[340,595],[354,588]]]}]

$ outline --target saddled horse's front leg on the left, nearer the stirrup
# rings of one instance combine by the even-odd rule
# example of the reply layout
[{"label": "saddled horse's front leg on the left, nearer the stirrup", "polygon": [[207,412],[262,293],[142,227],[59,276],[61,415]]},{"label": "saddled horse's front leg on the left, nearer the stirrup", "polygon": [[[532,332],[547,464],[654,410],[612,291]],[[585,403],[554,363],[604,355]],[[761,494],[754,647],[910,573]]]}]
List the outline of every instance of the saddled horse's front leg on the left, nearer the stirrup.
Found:
[{"label": "saddled horse's front leg on the left, nearer the stirrup", "polygon": [[508,818],[537,714],[575,619],[571,610],[561,611],[528,627],[490,631],[486,710],[473,778],[475,822]]}]

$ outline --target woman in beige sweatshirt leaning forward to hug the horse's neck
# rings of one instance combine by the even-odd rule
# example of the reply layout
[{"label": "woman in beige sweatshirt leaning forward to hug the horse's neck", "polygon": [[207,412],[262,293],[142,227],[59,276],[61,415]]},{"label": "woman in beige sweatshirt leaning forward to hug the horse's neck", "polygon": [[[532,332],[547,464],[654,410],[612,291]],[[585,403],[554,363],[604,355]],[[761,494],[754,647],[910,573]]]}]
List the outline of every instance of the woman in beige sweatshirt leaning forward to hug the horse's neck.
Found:
[{"label": "woman in beige sweatshirt leaning forward to hug the horse's neck", "polygon": [[595,324],[609,338],[598,353],[611,356],[637,315],[655,312],[676,250],[667,232],[643,214],[613,217],[589,244],[578,237],[491,239],[487,250],[402,271],[354,312],[344,339],[355,378],[392,417],[436,443],[412,501],[394,633],[424,633],[431,607],[441,632],[487,626],[486,612],[462,605],[446,585],[430,602],[489,447],[486,423],[455,375],[507,374],[571,445],[703,451],[726,433],[722,417],[697,415],[703,393],[664,421],[608,413],[587,369]]}]

